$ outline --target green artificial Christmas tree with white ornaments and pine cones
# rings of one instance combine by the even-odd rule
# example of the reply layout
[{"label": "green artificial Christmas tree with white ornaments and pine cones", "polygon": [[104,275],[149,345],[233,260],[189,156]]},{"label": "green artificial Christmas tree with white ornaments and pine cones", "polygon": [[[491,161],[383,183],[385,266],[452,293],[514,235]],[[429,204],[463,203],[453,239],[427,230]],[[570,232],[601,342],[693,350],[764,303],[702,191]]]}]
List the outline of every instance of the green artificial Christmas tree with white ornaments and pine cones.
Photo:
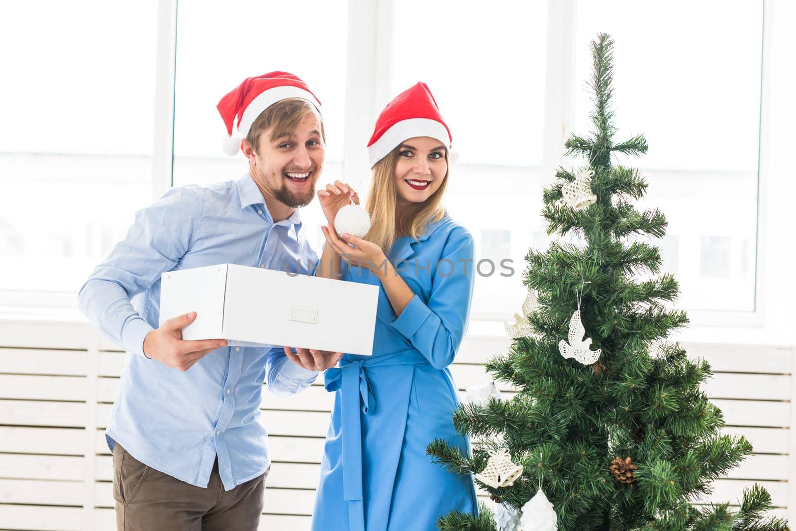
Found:
[{"label": "green artificial Christmas tree with white ornaments and pine cones", "polygon": [[[443,440],[428,452],[451,473],[478,474],[507,448],[523,467],[519,478],[478,486],[515,512],[543,491],[560,531],[788,529],[764,514],[771,497],[759,486],[744,491],[735,509],[708,502],[712,482],[751,445],[722,434],[721,412],[700,388],[711,376],[708,363],[667,342],[688,320],[671,308],[678,287],[661,273],[660,252],[638,238],[663,236],[665,217],[635,208],[647,184],[638,170],[612,161],[647,146],[642,135],[614,140],[611,48],[605,34],[591,45],[595,129],[565,144],[579,167],[560,169],[544,190],[548,234],[579,236],[583,245],[554,240],[544,252],[529,251],[524,283],[538,297],[527,316],[532,333],[513,336],[509,352],[486,364],[517,395],[455,412],[457,430],[473,436],[473,455]],[[490,510],[451,513],[439,527],[496,529]]]}]

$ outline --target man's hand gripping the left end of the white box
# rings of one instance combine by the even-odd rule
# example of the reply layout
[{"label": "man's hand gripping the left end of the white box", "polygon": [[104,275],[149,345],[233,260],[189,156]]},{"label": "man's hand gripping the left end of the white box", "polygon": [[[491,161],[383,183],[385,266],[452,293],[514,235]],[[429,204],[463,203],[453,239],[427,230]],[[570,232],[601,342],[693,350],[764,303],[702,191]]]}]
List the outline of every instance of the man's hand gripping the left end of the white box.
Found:
[{"label": "man's hand gripping the left end of the white box", "polygon": [[191,324],[195,318],[197,318],[195,311],[178,315],[164,322],[160,328],[146,334],[144,356],[185,372],[205,354],[227,346],[227,342],[223,339],[182,341],[182,329]]}]

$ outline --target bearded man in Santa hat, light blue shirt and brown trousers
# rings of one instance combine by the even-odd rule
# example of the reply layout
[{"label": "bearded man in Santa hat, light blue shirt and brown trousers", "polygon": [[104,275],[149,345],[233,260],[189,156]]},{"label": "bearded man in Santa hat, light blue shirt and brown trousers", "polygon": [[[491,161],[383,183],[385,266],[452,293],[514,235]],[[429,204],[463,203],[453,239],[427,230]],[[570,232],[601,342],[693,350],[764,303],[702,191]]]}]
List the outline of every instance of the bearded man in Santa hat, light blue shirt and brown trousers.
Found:
[{"label": "bearded man in Santa hat, light blue shirt and brown trousers", "polygon": [[[163,272],[232,263],[311,274],[317,264],[297,207],[312,200],[323,169],[320,103],[297,76],[270,72],[244,80],[218,110],[225,150],[242,149],[248,173],[170,189],[136,213],[78,295],[80,310],[127,351],[106,431],[116,521],[127,531],[257,529],[271,463],[263,379],[273,392],[298,392],[341,357],[299,349],[303,369],[282,347],[183,341],[194,312],[158,328]],[[232,139],[236,118],[243,139]]]}]

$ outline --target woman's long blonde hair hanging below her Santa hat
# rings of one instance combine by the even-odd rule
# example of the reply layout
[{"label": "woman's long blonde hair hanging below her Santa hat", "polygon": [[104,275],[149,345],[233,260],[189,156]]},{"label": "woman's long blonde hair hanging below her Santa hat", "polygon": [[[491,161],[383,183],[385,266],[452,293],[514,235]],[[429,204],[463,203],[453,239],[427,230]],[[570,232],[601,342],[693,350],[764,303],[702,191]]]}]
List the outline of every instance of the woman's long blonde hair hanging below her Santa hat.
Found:
[{"label": "woman's long blonde hair hanging below her Santa hat", "polygon": [[365,240],[377,244],[385,254],[389,254],[392,244],[399,236],[412,236],[417,240],[428,225],[441,220],[445,215],[443,193],[451,174],[447,150],[447,170],[443,183],[435,193],[422,203],[410,205],[406,212],[397,212],[396,165],[401,151],[400,146],[397,146],[373,166],[373,184],[365,205],[365,210],[370,214],[370,230],[365,235]]}]

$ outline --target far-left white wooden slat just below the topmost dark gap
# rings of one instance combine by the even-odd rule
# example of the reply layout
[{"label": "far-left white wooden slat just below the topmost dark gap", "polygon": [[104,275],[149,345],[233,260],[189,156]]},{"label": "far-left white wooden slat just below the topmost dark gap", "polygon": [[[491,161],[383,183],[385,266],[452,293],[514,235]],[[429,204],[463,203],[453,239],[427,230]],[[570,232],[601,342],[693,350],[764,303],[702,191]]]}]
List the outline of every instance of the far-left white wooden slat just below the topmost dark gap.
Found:
[{"label": "far-left white wooden slat just below the topmost dark gap", "polygon": [[81,376],[86,360],[85,350],[0,348],[0,373]]}]

